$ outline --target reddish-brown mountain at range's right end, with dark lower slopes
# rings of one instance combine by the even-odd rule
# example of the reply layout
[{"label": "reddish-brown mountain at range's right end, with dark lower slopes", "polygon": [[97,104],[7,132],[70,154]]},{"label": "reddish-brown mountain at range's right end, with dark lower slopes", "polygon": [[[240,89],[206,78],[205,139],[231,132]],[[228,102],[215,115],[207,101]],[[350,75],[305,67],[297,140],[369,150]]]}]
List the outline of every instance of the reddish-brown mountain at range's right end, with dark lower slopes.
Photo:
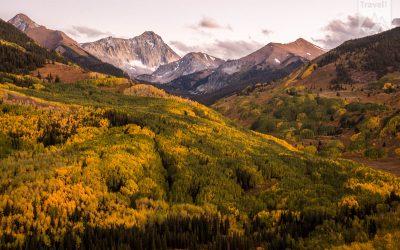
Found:
[{"label": "reddish-brown mountain at range's right end, with dark lower slopes", "polygon": [[[161,87],[175,94],[212,103],[249,85],[285,77],[323,53],[323,49],[302,38],[288,44],[270,43],[243,58],[226,61],[214,71],[182,76]],[[203,78],[199,79],[200,75]]]}]

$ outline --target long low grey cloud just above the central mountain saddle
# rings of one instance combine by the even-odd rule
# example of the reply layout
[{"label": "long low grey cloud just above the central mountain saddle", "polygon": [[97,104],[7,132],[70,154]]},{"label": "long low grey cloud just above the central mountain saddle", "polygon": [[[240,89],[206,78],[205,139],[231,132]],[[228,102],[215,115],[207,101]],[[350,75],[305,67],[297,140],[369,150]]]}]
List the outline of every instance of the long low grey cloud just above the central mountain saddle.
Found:
[{"label": "long low grey cloud just above the central mountain saddle", "polygon": [[255,41],[215,40],[212,43],[188,46],[179,41],[171,41],[170,45],[182,54],[189,52],[204,52],[222,59],[237,59],[261,48],[263,44]]}]

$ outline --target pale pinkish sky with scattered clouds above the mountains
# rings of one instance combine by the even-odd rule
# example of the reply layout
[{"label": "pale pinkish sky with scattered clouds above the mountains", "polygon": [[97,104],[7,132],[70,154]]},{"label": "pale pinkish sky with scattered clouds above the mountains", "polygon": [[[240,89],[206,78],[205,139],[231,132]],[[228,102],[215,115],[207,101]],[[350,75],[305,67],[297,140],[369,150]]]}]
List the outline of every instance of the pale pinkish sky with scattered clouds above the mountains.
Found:
[{"label": "pale pinkish sky with scattered clouds above the mountains", "polygon": [[24,13],[78,42],[152,30],[179,54],[224,59],[303,37],[324,48],[400,25],[400,0],[0,0],[0,18]]}]

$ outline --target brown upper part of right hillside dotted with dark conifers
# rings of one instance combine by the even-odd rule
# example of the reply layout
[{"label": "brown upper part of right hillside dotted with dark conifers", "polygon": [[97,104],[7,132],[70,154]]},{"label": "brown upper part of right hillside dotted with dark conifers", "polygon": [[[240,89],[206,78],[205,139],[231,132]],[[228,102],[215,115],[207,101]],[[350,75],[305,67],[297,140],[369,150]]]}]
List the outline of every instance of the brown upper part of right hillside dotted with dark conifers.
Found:
[{"label": "brown upper part of right hillside dotted with dark conifers", "polygon": [[[353,84],[363,84],[365,87],[400,70],[399,41],[400,27],[346,41],[316,58],[312,62],[315,68],[310,74],[298,77],[293,84],[315,85],[323,90],[344,90],[346,85]],[[320,79],[321,76],[325,79]]]}]

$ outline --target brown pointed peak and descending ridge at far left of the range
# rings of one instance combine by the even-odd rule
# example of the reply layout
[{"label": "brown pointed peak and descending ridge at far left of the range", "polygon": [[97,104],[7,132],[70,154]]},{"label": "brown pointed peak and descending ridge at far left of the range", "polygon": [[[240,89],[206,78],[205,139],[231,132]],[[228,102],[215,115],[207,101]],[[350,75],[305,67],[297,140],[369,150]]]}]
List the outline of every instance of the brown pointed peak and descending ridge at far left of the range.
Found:
[{"label": "brown pointed peak and descending ridge at far left of the range", "polygon": [[83,68],[116,76],[124,75],[122,70],[102,62],[85,51],[79,43],[62,31],[47,29],[45,26],[35,23],[24,14],[18,14],[8,22],[23,31],[38,44],[59,52],[64,57]]}]

